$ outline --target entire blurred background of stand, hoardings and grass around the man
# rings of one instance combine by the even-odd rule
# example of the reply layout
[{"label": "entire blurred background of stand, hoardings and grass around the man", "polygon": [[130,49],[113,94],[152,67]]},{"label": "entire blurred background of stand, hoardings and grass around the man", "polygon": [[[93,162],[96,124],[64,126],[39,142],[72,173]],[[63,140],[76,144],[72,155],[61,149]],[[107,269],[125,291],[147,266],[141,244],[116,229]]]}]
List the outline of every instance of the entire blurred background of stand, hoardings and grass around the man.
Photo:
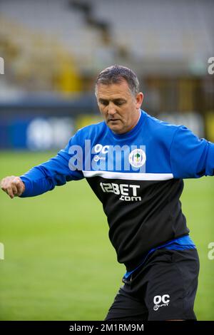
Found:
[{"label": "entire blurred background of stand, hoardings and grass around the man", "polygon": [[[213,0],[1,0],[0,178],[21,175],[101,120],[99,71],[136,72],[147,113],[214,141]],[[3,71],[4,70],[4,71]],[[0,319],[98,320],[124,267],[86,182],[26,200],[0,195]],[[195,309],[214,319],[211,177],[187,180],[183,209],[201,259]]]}]

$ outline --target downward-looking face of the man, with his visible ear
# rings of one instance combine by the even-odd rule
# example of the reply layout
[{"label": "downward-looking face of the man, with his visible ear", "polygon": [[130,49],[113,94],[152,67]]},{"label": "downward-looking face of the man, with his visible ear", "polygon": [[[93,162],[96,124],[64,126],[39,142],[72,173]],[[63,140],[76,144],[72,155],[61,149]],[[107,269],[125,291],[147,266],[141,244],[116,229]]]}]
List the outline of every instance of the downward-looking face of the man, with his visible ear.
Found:
[{"label": "downward-looking face of the man, with his visible ear", "polygon": [[99,83],[96,98],[106,124],[114,133],[127,133],[138,123],[143,93],[134,97],[125,80],[111,85]]}]

